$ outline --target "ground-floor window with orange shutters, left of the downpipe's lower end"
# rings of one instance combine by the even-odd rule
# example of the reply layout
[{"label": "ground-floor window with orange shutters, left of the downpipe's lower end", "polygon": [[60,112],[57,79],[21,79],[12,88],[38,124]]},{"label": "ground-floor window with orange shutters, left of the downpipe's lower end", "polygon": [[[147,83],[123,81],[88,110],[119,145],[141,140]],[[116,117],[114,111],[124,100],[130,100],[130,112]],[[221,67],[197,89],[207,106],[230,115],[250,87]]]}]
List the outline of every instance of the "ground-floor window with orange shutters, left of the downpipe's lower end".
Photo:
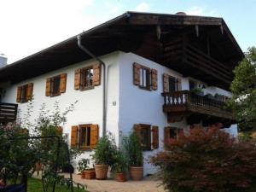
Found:
[{"label": "ground-floor window with orange shutters, left of the downpipe's lower end", "polygon": [[71,146],[88,150],[96,147],[98,141],[98,125],[75,125],[71,131]]}]

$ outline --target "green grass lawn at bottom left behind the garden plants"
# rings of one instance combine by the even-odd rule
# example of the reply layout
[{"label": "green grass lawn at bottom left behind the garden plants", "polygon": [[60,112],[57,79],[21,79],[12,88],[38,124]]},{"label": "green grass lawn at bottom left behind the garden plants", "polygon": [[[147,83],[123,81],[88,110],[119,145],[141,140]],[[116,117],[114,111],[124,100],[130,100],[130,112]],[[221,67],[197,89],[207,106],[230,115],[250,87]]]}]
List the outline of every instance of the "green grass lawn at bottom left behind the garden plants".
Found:
[{"label": "green grass lawn at bottom left behind the garden plants", "polygon": [[[56,186],[56,192],[70,192],[71,190],[63,186]],[[74,192],[84,192],[82,189],[74,188]],[[29,178],[27,182],[27,192],[44,192],[42,181],[37,178]]]}]

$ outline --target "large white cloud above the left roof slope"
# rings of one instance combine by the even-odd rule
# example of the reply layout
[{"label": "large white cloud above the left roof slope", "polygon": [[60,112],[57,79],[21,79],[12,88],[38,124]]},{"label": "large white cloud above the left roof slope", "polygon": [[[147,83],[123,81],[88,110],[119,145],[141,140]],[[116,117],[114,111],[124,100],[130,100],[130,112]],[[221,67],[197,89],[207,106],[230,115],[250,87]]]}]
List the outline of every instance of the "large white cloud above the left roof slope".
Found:
[{"label": "large white cloud above the left roof slope", "polygon": [[93,5],[94,0],[1,0],[0,54],[10,63],[95,26],[99,18],[86,14]]}]

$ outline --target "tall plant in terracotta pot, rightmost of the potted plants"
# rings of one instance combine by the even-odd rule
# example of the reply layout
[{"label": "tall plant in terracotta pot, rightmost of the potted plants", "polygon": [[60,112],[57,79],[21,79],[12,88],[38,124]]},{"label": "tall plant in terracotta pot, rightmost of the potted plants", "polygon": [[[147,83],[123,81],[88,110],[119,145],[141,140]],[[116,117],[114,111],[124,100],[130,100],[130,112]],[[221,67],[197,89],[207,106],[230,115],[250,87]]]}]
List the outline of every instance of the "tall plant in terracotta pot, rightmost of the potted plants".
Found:
[{"label": "tall plant in terracotta pot, rightmost of the potted plants", "polygon": [[123,148],[130,166],[131,179],[135,181],[142,180],[143,150],[135,132],[132,132],[128,137],[123,137]]}]

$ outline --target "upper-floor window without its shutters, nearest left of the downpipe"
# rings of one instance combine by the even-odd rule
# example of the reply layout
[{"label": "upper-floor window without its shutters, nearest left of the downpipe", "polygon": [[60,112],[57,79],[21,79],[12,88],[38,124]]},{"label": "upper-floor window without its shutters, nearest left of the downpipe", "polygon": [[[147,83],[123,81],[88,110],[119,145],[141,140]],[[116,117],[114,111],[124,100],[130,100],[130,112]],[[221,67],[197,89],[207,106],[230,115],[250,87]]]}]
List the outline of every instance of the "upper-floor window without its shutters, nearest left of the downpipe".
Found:
[{"label": "upper-floor window without its shutters, nearest left of the downpipe", "polygon": [[87,67],[81,70],[81,89],[93,88],[93,68]]}]

